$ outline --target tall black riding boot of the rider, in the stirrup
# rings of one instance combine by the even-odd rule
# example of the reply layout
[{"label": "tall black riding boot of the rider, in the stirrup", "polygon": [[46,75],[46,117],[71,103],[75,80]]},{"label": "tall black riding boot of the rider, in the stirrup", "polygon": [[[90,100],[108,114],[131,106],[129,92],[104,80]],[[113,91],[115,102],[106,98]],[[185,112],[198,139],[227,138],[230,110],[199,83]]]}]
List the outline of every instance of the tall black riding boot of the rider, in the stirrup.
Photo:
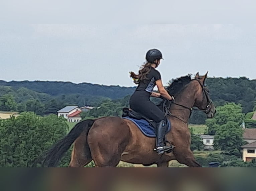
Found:
[{"label": "tall black riding boot of the rider, in the stirrup", "polygon": [[168,152],[172,149],[171,145],[170,146],[165,145],[164,136],[167,128],[168,128],[168,125],[166,124],[165,120],[162,120],[157,124],[156,148],[154,149],[154,151],[156,151],[158,155],[163,154],[164,152]]}]

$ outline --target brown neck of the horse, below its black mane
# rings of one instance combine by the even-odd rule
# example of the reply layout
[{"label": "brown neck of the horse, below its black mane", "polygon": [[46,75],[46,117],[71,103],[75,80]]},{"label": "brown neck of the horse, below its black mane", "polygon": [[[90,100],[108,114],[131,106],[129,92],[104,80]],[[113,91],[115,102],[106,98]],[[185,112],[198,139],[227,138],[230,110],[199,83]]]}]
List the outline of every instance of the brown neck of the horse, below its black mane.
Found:
[{"label": "brown neck of the horse, below its black mane", "polygon": [[[170,107],[170,112],[172,113],[172,115],[179,117],[180,119],[187,122],[190,116],[190,110],[185,107],[193,107],[195,103],[195,93],[183,90],[180,95],[176,97],[175,103],[179,105],[172,104],[172,106]],[[183,105],[185,107],[182,107],[180,105]]]}]

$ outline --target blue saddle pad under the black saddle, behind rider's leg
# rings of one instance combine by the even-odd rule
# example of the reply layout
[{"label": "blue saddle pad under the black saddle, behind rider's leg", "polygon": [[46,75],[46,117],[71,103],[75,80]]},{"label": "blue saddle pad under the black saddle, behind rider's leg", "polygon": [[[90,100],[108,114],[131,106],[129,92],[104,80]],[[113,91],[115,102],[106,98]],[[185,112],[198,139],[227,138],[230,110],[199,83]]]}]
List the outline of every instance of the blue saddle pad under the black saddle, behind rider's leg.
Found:
[{"label": "blue saddle pad under the black saddle, behind rider's leg", "polygon": [[[150,123],[148,121],[146,121],[145,119],[134,119],[134,118],[130,118],[130,117],[123,117],[123,118],[134,122],[134,124],[141,130],[141,132],[144,135],[146,135],[148,137],[156,137],[155,128],[152,127],[150,125]],[[171,130],[171,123],[169,120],[168,120],[167,125],[168,125],[168,129],[167,129],[166,133],[168,133]]]}]

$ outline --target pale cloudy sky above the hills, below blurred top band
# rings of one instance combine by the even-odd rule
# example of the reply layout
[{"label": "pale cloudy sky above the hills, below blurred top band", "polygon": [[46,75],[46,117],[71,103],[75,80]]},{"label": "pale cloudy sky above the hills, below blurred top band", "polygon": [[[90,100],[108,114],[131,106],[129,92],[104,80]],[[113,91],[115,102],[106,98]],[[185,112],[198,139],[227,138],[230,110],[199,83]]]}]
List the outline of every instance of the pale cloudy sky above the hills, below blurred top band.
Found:
[{"label": "pale cloudy sky above the hills, below blurred top band", "polygon": [[199,72],[256,79],[253,24],[2,24],[0,80],[135,86],[151,48],[163,84]]}]

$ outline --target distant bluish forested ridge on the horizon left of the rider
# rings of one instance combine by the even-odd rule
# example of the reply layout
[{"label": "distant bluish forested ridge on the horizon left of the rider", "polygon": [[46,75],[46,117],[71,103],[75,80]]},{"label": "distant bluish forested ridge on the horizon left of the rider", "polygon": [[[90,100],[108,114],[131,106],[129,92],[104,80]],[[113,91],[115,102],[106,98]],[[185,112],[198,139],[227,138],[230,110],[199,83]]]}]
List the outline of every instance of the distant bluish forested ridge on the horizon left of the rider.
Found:
[{"label": "distant bluish forested ridge on the horizon left of the rider", "polygon": [[44,82],[44,81],[0,81],[0,86],[11,86],[14,89],[21,87],[49,95],[63,95],[63,94],[83,94],[93,96],[104,96],[111,99],[122,98],[126,95],[132,94],[134,88],[126,88],[120,86],[103,86],[90,83],[74,84],[71,82]]}]

